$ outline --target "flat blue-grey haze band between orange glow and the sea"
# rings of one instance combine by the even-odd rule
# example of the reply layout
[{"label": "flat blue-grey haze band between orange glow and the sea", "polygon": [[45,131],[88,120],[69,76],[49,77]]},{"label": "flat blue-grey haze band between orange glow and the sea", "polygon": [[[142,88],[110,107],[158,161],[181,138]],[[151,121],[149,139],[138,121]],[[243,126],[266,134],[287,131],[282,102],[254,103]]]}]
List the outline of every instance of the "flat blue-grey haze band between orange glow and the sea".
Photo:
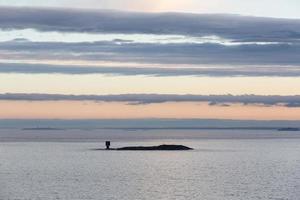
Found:
[{"label": "flat blue-grey haze band between orange glow and the sea", "polygon": [[278,130],[299,128],[300,121],[218,119],[0,119],[0,129],[24,130]]}]

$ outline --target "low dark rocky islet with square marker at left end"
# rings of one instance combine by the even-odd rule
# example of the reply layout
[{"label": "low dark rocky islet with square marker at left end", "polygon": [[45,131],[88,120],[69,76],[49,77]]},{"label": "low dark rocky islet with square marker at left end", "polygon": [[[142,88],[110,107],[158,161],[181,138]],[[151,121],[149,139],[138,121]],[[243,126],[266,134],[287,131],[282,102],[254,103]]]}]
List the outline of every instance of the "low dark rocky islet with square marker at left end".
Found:
[{"label": "low dark rocky islet with square marker at left end", "polygon": [[[110,141],[105,142],[106,150],[115,150],[115,151],[187,151],[193,150],[190,147],[183,145],[159,145],[159,146],[131,146],[131,147],[122,147],[122,148],[110,148]],[[101,150],[101,149],[99,149]]]}]

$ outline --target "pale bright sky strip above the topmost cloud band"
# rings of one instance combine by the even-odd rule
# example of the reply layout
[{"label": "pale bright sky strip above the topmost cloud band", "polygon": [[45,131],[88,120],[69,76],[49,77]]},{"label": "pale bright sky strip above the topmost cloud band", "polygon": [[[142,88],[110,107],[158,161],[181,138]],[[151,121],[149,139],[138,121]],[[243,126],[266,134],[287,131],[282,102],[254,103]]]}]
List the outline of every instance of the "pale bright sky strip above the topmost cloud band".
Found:
[{"label": "pale bright sky strip above the topmost cloud band", "polygon": [[298,0],[0,0],[0,5],[117,9],[139,12],[232,13],[300,18]]}]

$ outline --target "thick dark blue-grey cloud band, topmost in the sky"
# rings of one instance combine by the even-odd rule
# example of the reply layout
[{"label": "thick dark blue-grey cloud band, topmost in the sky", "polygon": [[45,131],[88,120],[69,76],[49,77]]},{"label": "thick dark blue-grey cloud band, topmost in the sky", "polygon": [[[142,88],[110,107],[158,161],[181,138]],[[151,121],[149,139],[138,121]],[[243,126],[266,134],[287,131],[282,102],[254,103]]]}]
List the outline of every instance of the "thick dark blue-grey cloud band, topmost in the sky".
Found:
[{"label": "thick dark blue-grey cloud band, topmost in the sky", "polygon": [[237,15],[0,8],[0,28],[41,31],[219,35],[242,41],[294,40],[300,20]]}]

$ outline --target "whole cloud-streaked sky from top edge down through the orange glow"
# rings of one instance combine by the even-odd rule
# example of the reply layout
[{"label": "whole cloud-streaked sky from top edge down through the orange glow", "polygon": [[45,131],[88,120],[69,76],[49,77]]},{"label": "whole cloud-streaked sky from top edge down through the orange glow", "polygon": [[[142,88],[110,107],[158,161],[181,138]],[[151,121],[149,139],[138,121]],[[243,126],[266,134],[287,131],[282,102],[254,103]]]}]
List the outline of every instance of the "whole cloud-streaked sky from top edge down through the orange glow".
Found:
[{"label": "whole cloud-streaked sky from top edge down through the orange glow", "polygon": [[0,119],[300,120],[298,8],[0,0]]}]

